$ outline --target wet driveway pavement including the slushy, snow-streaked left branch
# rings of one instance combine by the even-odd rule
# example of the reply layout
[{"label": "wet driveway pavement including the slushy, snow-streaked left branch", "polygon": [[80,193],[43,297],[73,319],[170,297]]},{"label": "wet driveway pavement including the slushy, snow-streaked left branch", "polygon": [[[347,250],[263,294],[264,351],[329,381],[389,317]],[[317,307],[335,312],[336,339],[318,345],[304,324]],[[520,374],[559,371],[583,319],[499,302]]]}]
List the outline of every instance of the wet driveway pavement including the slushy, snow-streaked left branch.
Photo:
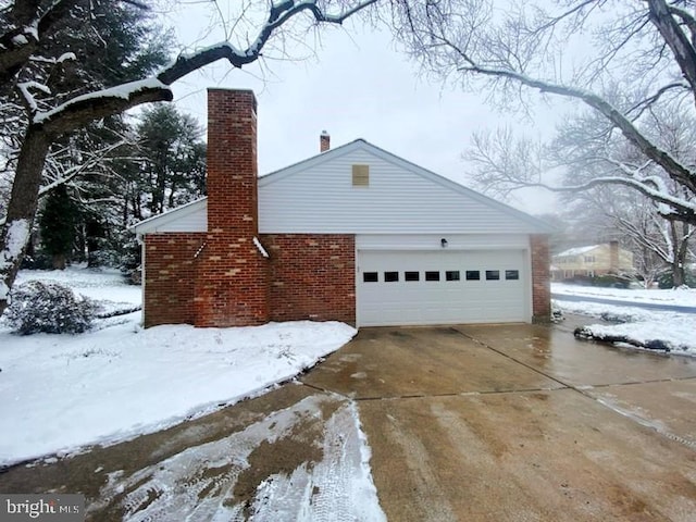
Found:
[{"label": "wet driveway pavement including the slushy, snow-streaked left branch", "polygon": [[0,492],[84,493],[99,521],[212,520],[231,506],[221,520],[296,520],[261,509],[264,484],[325,468],[327,478],[302,482],[309,504],[344,498],[324,484],[359,451],[346,413],[357,408],[388,520],[695,521],[696,360],[579,341],[571,330],[365,328],[299,383],[15,467]]}]

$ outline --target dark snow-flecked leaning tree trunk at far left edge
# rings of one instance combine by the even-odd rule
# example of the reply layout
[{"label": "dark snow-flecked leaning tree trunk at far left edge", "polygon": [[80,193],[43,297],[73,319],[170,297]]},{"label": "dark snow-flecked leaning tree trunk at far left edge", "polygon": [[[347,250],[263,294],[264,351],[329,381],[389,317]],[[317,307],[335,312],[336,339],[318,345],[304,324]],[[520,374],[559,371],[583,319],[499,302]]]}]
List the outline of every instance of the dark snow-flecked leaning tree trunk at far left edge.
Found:
[{"label": "dark snow-flecked leaning tree trunk at far left edge", "polygon": [[46,133],[40,127],[29,126],[17,159],[7,220],[0,234],[0,313],[8,306],[8,294],[32,233],[48,149]]}]

